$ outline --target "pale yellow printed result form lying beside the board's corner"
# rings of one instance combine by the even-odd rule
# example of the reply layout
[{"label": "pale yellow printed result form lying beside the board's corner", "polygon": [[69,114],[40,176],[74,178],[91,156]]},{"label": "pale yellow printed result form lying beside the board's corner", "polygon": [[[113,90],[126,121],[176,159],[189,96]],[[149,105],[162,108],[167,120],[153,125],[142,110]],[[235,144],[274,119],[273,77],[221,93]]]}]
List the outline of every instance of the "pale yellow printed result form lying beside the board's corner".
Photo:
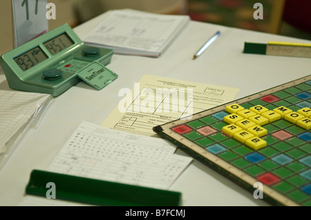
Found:
[{"label": "pale yellow printed result form lying beside the board's corner", "polygon": [[158,137],[152,128],[234,100],[238,88],[146,74],[123,97],[102,127]]}]

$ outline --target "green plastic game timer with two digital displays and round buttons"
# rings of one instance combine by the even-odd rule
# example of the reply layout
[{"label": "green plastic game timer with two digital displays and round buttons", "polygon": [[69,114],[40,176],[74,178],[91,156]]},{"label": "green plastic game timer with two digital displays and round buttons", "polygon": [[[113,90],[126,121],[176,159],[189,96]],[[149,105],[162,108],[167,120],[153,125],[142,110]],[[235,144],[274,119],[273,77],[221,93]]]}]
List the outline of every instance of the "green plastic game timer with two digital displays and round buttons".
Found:
[{"label": "green plastic game timer with two digital displays and round buttons", "polygon": [[86,46],[68,24],[24,43],[0,58],[8,85],[15,90],[57,97],[81,79],[79,70],[110,63],[113,50]]}]

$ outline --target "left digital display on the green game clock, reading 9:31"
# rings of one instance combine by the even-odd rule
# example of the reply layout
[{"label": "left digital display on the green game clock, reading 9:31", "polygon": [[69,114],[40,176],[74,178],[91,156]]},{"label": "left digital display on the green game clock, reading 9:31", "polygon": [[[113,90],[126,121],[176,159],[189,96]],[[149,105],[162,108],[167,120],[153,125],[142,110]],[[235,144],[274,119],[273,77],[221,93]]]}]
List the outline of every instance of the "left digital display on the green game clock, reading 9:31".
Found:
[{"label": "left digital display on the green game clock, reading 9:31", "polygon": [[46,59],[48,59],[48,56],[46,56],[43,50],[37,46],[36,48],[28,50],[28,52],[24,52],[23,54],[19,55],[19,57],[15,57],[14,60],[21,68],[21,70],[25,71]]}]

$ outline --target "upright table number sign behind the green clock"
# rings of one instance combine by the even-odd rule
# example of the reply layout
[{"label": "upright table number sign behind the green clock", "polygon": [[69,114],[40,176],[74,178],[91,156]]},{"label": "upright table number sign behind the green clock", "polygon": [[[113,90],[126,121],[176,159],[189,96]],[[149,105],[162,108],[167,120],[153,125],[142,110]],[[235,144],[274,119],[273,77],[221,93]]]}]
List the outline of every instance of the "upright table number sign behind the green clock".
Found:
[{"label": "upright table number sign behind the green clock", "polygon": [[47,0],[12,0],[14,47],[48,32]]}]

